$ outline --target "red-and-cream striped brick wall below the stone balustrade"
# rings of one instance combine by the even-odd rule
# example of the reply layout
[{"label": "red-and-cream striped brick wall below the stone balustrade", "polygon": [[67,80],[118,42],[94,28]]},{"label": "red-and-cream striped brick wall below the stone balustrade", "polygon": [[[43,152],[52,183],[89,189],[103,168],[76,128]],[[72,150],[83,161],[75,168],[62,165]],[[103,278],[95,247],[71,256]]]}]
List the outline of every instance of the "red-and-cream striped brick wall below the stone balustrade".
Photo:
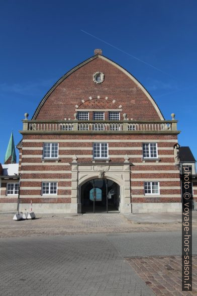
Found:
[{"label": "red-and-cream striped brick wall below the stone balustrade", "polygon": [[[21,187],[30,187],[29,189],[21,189],[20,195],[22,202],[25,202],[24,200],[26,198],[35,198],[37,202],[44,202],[44,203],[50,203],[53,202],[52,198],[47,198],[46,196],[42,196],[42,182],[35,182],[34,179],[62,179],[62,181],[58,181],[58,186],[65,186],[65,187],[70,187],[71,186],[71,165],[67,165],[68,163],[72,162],[72,157],[65,157],[65,156],[72,156],[76,155],[78,158],[78,162],[83,162],[83,163],[91,163],[91,158],[89,157],[92,155],[92,141],[84,141],[84,140],[92,140],[91,135],[66,135],[62,134],[61,136],[59,135],[24,135],[24,139],[26,141],[23,142],[23,149],[22,149],[22,161],[21,161],[21,171],[22,171],[22,180],[23,179],[28,179],[29,181],[21,181]],[[59,142],[59,162],[53,163],[48,162],[48,163],[42,163],[42,149],[43,149],[43,142],[45,141],[60,141]],[[76,139],[78,140],[76,142]],[[117,141],[122,139],[123,141]],[[34,142],[34,140],[36,140]],[[109,136],[108,135],[95,135],[94,136],[95,141],[108,141]],[[177,142],[177,137],[175,135],[111,135],[110,136],[110,141],[109,142],[109,153],[113,155],[111,157],[111,162],[118,162],[118,163],[123,163],[124,158],[120,157],[120,155],[135,155],[138,157],[135,158],[130,158],[130,162],[135,163],[134,166],[131,166],[131,201],[132,202],[179,202],[180,198],[177,197],[167,197],[168,194],[170,195],[175,195],[180,194],[179,189],[170,189],[170,186],[179,186],[180,183],[179,181],[173,181],[171,180],[172,178],[177,178],[179,179],[179,173],[177,170],[177,167],[173,165],[174,159],[173,159],[173,145]],[[124,140],[128,140],[128,142],[125,142]],[[137,140],[137,141],[136,141]],[[150,140],[150,141],[158,141],[158,155],[161,156],[161,161],[158,165],[153,165],[152,162],[146,162],[144,165],[142,165],[142,143],[143,140]],[[164,140],[164,142],[160,142],[159,140]],[[172,140],[172,142],[168,142],[165,140]],[[131,141],[131,142],[130,142]],[[40,148],[39,150],[34,150],[32,148]],[[64,150],[65,148],[70,148],[69,150]],[[80,147],[85,147],[86,150],[74,150],[74,147],[77,147],[80,149]],[[110,150],[111,147],[119,147],[121,150]],[[131,150],[124,150],[124,147],[131,147]],[[135,148],[138,148],[139,150],[135,150]],[[163,148],[160,150],[160,147]],[[171,148],[171,150],[168,150],[166,148]],[[28,148],[28,150],[26,150]],[[30,150],[29,150],[30,149]],[[85,157],[85,156],[88,157]],[[162,156],[168,156],[169,158],[162,158]],[[33,157],[34,156],[34,157]],[[38,156],[38,157],[35,157]],[[83,156],[83,157],[80,157]],[[30,163],[28,166],[27,164]],[[140,164],[138,166],[137,164]],[[161,165],[162,163],[162,165]],[[168,163],[170,165],[165,165],[165,163]],[[24,164],[24,165],[23,165]],[[32,165],[36,164],[36,165]],[[62,165],[65,164],[65,165]],[[171,171],[169,174],[168,172],[159,172],[159,171]],[[28,174],[26,173],[28,171]],[[39,171],[41,173],[39,173]],[[55,171],[57,173],[48,173],[50,171]],[[138,173],[135,173],[135,171],[138,171]],[[155,171],[155,173],[148,173],[148,171]],[[174,173],[173,173],[174,171]],[[31,172],[29,174],[29,172]],[[35,172],[35,173],[34,173]],[[46,172],[46,173],[45,173]],[[139,173],[141,172],[141,173]],[[64,181],[64,179],[70,179],[70,181]],[[155,178],[155,181],[158,178],[165,178],[169,179],[169,181],[159,181],[160,182],[160,194],[166,195],[166,197],[160,197],[160,196],[155,196],[155,197],[148,197],[144,196],[144,190],[143,189],[132,189],[132,186],[144,186],[144,181],[141,181],[141,179],[144,178]],[[133,179],[139,179],[139,181],[132,181]],[[52,180],[51,180],[52,181]],[[169,186],[169,189],[162,189],[162,186]],[[34,187],[40,187],[40,189],[34,189]],[[135,197],[135,195],[141,195],[141,197]],[[34,197],[34,196],[40,195],[40,198]],[[65,195],[65,198],[70,200],[71,196],[71,190],[63,190],[63,189],[58,189],[58,195]],[[57,195],[57,197],[58,197]],[[134,195],[134,196],[133,196]],[[69,198],[69,199],[68,199]],[[63,202],[63,198],[60,198],[61,202]]]}]

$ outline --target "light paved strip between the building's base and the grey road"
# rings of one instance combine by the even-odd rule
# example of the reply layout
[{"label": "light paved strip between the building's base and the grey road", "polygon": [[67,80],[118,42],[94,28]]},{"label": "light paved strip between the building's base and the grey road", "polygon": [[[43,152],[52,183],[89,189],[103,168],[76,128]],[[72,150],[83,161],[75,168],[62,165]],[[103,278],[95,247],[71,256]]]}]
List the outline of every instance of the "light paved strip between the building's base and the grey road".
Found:
[{"label": "light paved strip between the building's base and the grey road", "polygon": [[[181,231],[181,224],[136,224],[119,213],[83,215],[37,215],[35,220],[14,221],[14,214],[0,215],[0,237],[88,233]],[[197,226],[193,226],[193,230]]]}]

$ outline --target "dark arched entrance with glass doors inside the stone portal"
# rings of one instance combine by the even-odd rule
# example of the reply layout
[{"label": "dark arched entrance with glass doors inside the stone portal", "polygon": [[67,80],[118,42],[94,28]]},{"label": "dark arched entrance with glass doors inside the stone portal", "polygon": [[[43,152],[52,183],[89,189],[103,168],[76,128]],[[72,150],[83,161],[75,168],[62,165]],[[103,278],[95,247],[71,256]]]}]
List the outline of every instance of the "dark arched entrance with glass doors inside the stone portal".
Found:
[{"label": "dark arched entrance with glass doors inside the stone portal", "polygon": [[93,179],[81,186],[82,213],[119,212],[120,186],[109,179]]}]

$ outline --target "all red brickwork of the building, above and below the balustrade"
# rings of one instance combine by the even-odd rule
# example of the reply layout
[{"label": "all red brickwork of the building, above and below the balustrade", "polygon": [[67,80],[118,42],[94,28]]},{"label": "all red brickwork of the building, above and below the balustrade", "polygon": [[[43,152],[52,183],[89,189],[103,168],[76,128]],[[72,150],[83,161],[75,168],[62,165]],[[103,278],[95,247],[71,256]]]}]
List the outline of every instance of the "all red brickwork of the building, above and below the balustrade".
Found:
[{"label": "all red brickwork of the building, above and below the balustrade", "polygon": [[[96,71],[105,73],[102,84],[95,84],[92,74]],[[91,99],[91,100],[90,100]],[[76,106],[77,105],[77,106]],[[140,106],[140,108],[139,108]],[[64,120],[74,119],[76,109],[121,109],[120,119],[123,113],[134,120],[160,120],[155,107],[150,102],[142,89],[139,88],[125,73],[111,63],[97,57],[78,68],[70,76],[64,79],[49,95],[41,107],[37,120]],[[93,119],[93,111],[89,111],[89,119]],[[105,119],[108,119],[108,111],[105,111]],[[42,162],[43,143],[56,141],[59,143],[59,160],[56,163]],[[170,189],[170,186],[179,186],[178,168],[174,166],[173,146],[177,143],[177,136],[173,134],[23,134],[23,143],[20,147],[19,170],[21,173],[20,196],[22,202],[34,198],[37,202],[70,202],[71,190],[58,189],[57,198],[42,196],[42,182],[35,179],[62,179],[58,181],[58,187],[71,186],[71,165],[73,155],[77,156],[79,163],[91,163],[93,141],[109,142],[110,163],[123,164],[125,155],[129,155],[129,161],[134,164],[131,169],[131,199],[132,202],[177,202],[180,198],[179,189]],[[143,141],[155,141],[158,146],[160,161],[154,164],[146,160],[142,164]],[[118,147],[119,150],[111,148]],[[130,147],[130,150],[124,150]],[[66,149],[64,149],[66,148]],[[77,149],[75,149],[77,148]],[[80,149],[81,148],[81,149]],[[85,150],[84,150],[85,148]],[[137,150],[136,150],[137,148]],[[165,149],[166,148],[166,149]],[[170,148],[170,150],[168,149]],[[110,164],[109,163],[109,164]],[[139,165],[138,165],[139,164]],[[171,171],[159,172],[159,171]],[[135,171],[138,171],[135,173]],[[152,171],[148,173],[148,171]],[[141,172],[141,173],[139,173]],[[154,173],[153,173],[154,172]],[[141,179],[153,178],[166,179],[160,181],[160,186],[169,186],[169,189],[160,188],[160,194],[165,197],[144,196],[143,189],[132,189],[132,186],[144,186]],[[23,181],[25,179],[25,181]],[[70,181],[67,182],[69,179]],[[135,181],[133,181],[135,179]],[[139,181],[136,181],[139,179]],[[23,187],[26,187],[23,189]],[[29,188],[28,188],[29,187]],[[35,188],[34,188],[35,187]],[[40,187],[40,189],[38,189]],[[169,197],[168,195],[175,197]],[[58,197],[58,195],[61,197]],[[62,198],[62,195],[65,198]],[[133,195],[133,196],[132,196]],[[141,195],[137,198],[135,195]],[[39,196],[39,198],[37,197]],[[6,198],[3,195],[1,198]],[[10,199],[8,199],[10,200]]]}]

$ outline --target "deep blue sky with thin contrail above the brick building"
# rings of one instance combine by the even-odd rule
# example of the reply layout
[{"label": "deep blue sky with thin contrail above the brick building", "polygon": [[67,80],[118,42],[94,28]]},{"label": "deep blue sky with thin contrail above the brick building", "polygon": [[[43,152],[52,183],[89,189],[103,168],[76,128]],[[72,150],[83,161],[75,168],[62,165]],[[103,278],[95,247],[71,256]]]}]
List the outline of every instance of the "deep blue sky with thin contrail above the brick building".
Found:
[{"label": "deep blue sky with thin contrail above the brick building", "polygon": [[94,48],[131,72],[166,119],[175,113],[178,142],[197,159],[196,11],[195,0],[2,0],[0,162],[11,131],[15,144],[21,139],[24,113],[31,118],[51,86]]}]

